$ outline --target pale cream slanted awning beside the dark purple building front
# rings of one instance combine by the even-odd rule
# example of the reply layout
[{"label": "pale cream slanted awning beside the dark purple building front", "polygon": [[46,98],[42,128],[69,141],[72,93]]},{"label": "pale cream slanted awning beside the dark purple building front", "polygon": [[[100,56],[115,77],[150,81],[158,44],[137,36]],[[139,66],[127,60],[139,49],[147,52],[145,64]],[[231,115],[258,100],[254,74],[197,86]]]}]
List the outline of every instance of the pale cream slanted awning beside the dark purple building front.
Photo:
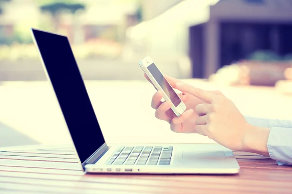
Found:
[{"label": "pale cream slanted awning beside the dark purple building front", "polygon": [[[157,63],[176,64],[182,78],[192,77],[189,58],[189,28],[210,18],[210,6],[218,0],[183,0],[153,19],[127,30],[124,58],[149,55]],[[170,66],[169,68],[171,68]]]}]

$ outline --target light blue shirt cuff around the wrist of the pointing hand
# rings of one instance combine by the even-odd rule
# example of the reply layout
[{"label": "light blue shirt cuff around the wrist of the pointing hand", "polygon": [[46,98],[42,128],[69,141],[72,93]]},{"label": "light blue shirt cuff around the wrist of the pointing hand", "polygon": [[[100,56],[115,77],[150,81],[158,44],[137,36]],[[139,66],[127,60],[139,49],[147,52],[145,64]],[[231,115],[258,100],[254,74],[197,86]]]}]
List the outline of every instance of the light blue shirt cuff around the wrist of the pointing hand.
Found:
[{"label": "light blue shirt cuff around the wrist of the pointing hand", "polygon": [[268,151],[279,165],[292,165],[292,129],[272,127],[268,138]]}]

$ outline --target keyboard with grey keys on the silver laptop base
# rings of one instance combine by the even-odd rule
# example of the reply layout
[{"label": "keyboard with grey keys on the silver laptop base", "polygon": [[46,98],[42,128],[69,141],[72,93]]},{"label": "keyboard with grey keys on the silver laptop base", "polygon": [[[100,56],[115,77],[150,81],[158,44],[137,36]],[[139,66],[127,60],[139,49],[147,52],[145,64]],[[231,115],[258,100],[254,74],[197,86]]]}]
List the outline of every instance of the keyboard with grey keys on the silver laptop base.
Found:
[{"label": "keyboard with grey keys on the silver laptop base", "polygon": [[173,146],[121,146],[108,165],[169,165]]}]

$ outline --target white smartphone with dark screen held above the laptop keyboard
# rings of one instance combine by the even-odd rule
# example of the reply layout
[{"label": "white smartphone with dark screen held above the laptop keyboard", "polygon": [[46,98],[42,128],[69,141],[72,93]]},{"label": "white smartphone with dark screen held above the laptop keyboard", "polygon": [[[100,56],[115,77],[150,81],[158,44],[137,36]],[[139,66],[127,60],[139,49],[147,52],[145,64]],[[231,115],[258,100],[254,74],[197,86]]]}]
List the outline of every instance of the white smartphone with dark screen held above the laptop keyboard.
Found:
[{"label": "white smartphone with dark screen held above the laptop keyboard", "polygon": [[174,91],[169,82],[164,78],[159,68],[155,65],[151,57],[147,56],[139,61],[140,67],[146,73],[150,81],[154,84],[157,90],[161,91],[164,95],[165,101],[171,101],[171,109],[180,116],[186,109],[183,100]]}]

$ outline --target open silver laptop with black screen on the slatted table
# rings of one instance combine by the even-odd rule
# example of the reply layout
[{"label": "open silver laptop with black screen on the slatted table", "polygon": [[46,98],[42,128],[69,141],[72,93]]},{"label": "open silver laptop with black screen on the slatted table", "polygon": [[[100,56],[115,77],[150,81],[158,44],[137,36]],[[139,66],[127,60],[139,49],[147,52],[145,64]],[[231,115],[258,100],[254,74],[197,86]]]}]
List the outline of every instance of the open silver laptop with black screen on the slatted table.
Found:
[{"label": "open silver laptop with black screen on the slatted table", "polygon": [[[67,36],[38,29],[32,29],[32,35],[83,171],[98,174],[239,172],[232,151],[218,144],[107,145]],[[139,130],[139,126],[136,128]]]}]

